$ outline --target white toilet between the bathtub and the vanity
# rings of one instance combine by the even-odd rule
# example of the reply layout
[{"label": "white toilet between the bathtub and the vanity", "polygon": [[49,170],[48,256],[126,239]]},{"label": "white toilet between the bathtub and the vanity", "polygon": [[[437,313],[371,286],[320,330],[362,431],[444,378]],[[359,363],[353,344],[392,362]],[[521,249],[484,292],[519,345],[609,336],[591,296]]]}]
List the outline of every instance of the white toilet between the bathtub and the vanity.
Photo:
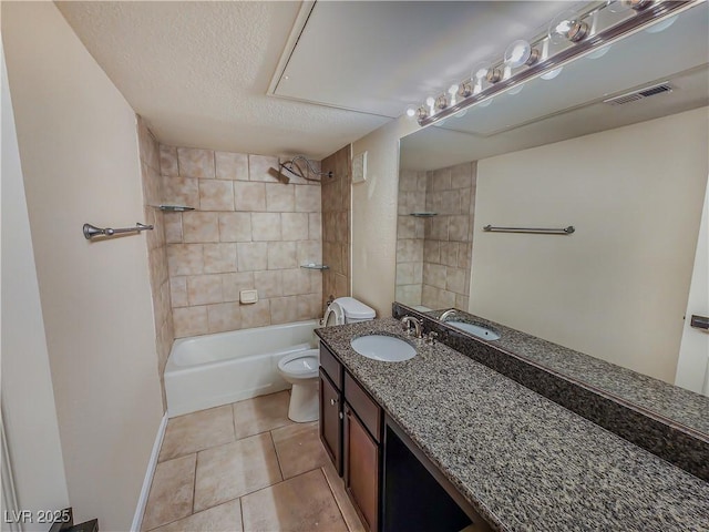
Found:
[{"label": "white toilet between the bathtub and the vanity", "polygon": [[[335,299],[325,313],[322,326],[352,324],[374,319],[374,309],[352,297]],[[298,423],[318,419],[318,368],[320,350],[294,352],[278,362],[280,376],[292,385],[288,418]]]}]

